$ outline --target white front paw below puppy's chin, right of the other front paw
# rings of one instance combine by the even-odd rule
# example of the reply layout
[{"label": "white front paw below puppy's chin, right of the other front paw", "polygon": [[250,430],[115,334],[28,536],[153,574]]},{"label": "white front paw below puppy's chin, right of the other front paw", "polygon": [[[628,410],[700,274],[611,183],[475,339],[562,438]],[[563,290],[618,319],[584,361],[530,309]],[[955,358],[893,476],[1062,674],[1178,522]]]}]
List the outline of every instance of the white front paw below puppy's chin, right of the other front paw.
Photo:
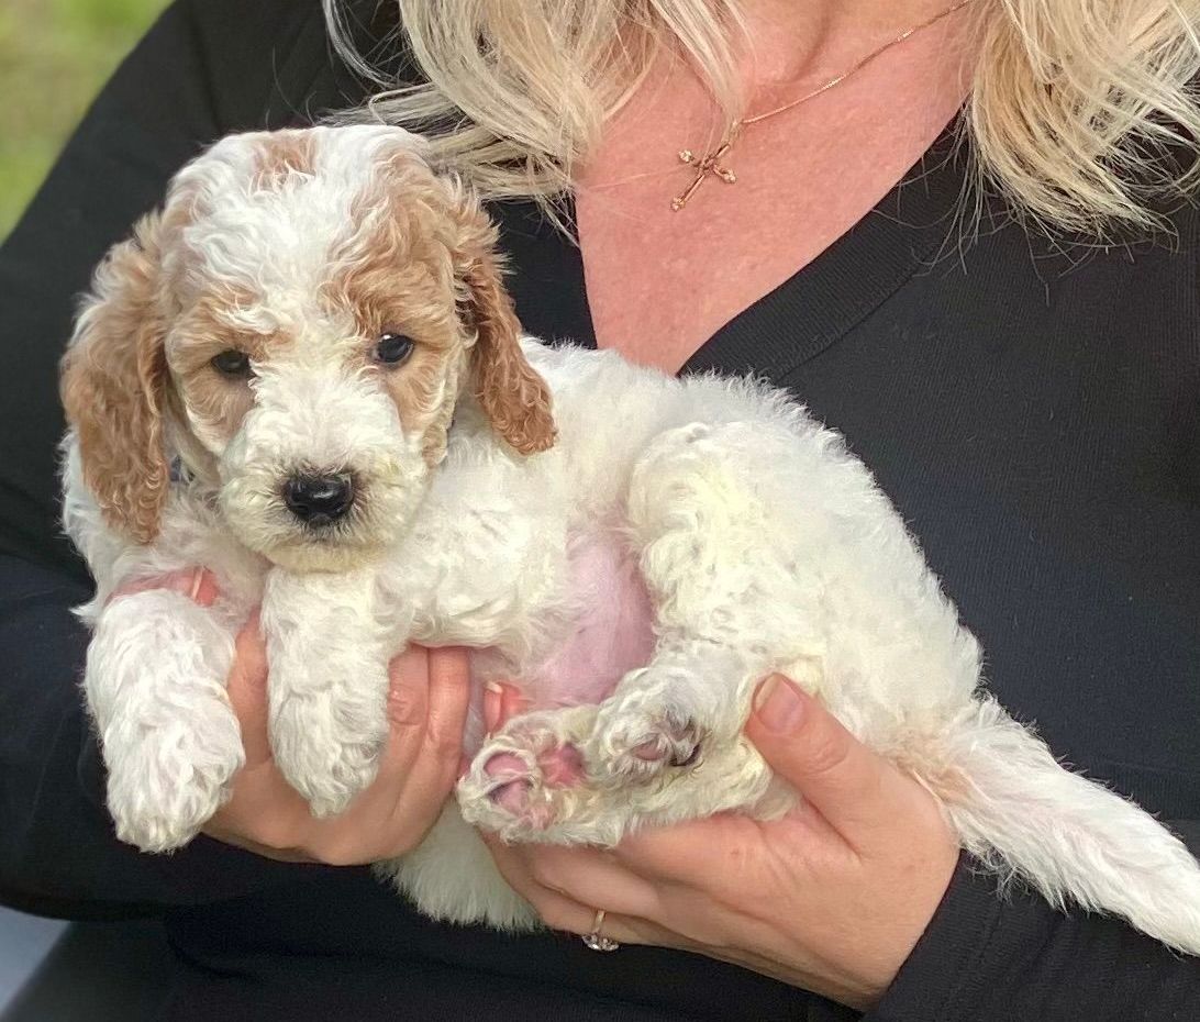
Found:
[{"label": "white front paw below puppy's chin, right of the other front paw", "polygon": [[388,740],[388,675],[376,671],[378,677],[360,675],[353,685],[341,679],[307,684],[271,701],[275,762],[317,818],[343,812],[379,769]]}]

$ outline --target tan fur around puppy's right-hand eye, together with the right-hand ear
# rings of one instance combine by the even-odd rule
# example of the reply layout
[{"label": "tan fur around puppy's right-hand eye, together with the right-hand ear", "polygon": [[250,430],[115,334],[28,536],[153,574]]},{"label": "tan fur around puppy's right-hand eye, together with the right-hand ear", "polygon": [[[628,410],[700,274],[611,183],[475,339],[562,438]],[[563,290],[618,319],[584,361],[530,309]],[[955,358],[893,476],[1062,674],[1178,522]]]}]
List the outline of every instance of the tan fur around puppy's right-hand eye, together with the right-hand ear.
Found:
[{"label": "tan fur around puppy's right-hand eye, together with the right-hand ear", "polygon": [[[334,253],[335,264],[350,269],[329,281],[324,299],[354,317],[367,361],[384,332],[416,342],[407,363],[379,368],[406,433],[421,434],[431,464],[440,459],[458,369],[474,339],[473,393],[493,428],[521,453],[552,446],[550,391],[521,351],[521,325],[494,256],[496,228],[478,202],[400,143],[353,203],[350,222],[380,210],[386,215],[370,238],[352,233],[346,250]],[[463,291],[468,324],[460,318]]]}]

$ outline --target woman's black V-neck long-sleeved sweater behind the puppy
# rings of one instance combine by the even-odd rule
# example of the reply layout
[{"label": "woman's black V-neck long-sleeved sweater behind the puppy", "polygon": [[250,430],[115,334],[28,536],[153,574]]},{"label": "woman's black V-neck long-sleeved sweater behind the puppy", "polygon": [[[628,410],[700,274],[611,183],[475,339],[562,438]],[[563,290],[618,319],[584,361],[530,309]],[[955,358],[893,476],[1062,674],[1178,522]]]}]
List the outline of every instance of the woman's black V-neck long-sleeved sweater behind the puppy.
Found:
[{"label": "woman's black V-neck long-sleeved sweater behind the puppy", "polygon": [[[179,952],[173,1018],[856,1017],[751,973],[418,918],[365,870],[206,838],[119,844],[100,799],[70,614],[89,583],[58,535],[55,363],[103,251],[204,144],[356,103],[316,0],[180,0],[137,48],[0,252],[0,891],[67,916],[155,912]],[[904,112],[898,110],[898,116]],[[1200,282],[1176,238],[1051,246],[949,218],[931,152],[688,369],[791,387],[875,470],[1055,752],[1200,847]],[[593,341],[578,253],[497,210],[526,327]],[[966,867],[875,1022],[1200,1018],[1200,963],[1111,920],[1002,901]]]}]

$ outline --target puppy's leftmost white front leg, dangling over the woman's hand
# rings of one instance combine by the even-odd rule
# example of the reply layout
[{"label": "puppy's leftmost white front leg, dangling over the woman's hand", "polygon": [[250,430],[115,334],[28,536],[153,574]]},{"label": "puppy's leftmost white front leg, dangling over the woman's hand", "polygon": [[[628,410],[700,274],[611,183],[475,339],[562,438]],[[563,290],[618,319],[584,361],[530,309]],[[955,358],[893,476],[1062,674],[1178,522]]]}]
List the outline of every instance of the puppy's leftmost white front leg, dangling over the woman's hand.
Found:
[{"label": "puppy's leftmost white front leg, dangling over the woman's hand", "polygon": [[233,651],[229,623],[179,593],[121,596],[100,613],[84,691],[122,841],[179,848],[228,798],[244,763],[224,687]]}]

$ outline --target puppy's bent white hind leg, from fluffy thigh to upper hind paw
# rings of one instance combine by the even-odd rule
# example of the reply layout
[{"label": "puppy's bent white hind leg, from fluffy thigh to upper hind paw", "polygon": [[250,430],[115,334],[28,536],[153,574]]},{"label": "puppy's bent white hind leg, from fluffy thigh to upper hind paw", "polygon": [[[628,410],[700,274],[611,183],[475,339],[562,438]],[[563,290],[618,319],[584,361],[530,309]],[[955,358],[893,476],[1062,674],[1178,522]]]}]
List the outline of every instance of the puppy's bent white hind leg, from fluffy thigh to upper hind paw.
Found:
[{"label": "puppy's bent white hind leg, from fluffy thigh to upper hind paw", "polygon": [[769,423],[692,425],[640,461],[628,513],[659,644],[600,707],[587,749],[599,782],[678,788],[704,764],[691,798],[706,811],[744,805],[766,783],[740,739],[754,686],[787,665],[816,687],[824,649],[827,524],[788,492],[796,446]]}]

